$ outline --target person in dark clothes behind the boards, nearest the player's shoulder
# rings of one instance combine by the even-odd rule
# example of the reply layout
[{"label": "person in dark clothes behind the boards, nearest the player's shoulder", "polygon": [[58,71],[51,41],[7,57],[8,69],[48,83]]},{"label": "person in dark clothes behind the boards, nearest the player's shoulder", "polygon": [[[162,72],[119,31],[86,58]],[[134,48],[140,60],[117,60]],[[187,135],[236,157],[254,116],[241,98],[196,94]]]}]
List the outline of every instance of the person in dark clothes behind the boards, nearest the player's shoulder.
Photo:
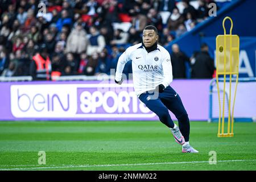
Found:
[{"label": "person in dark clothes behind the boards, nearest the player's shoulder", "polygon": [[180,48],[177,44],[172,45],[171,61],[172,75],[174,76],[174,78],[185,78],[185,63],[189,63],[189,57],[185,55],[184,52],[180,51]]}]

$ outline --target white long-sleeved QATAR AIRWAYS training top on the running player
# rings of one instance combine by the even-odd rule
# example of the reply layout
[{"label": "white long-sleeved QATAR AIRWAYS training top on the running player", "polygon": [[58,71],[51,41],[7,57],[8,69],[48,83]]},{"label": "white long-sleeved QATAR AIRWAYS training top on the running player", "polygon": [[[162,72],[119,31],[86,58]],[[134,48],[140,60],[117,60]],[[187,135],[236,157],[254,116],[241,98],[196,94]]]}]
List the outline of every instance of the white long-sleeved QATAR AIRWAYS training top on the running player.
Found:
[{"label": "white long-sleeved QATAR AIRWAYS training top on the running player", "polygon": [[118,59],[115,80],[121,81],[125,64],[131,60],[135,94],[154,90],[163,84],[166,88],[172,82],[172,64],[170,53],[158,45],[155,51],[147,52],[142,43],[126,49]]}]

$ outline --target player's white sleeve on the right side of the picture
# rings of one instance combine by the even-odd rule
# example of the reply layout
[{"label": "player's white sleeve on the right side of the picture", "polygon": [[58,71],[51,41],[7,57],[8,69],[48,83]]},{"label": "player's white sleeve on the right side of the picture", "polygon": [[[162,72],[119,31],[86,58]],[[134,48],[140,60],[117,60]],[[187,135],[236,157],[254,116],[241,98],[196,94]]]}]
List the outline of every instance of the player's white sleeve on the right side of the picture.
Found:
[{"label": "player's white sleeve on the right side of the picture", "polygon": [[171,63],[171,56],[169,53],[166,54],[166,56],[164,57],[162,67],[163,67],[163,76],[164,76],[162,84],[166,88],[172,82],[172,63]]}]

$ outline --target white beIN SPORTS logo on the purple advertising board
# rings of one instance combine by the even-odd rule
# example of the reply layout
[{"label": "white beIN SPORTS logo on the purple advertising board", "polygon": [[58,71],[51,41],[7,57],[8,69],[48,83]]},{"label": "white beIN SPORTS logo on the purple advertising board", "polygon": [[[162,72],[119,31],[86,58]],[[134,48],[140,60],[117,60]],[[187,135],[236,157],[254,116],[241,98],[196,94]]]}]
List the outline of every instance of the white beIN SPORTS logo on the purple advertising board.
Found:
[{"label": "white beIN SPORTS logo on the purple advertising board", "polygon": [[117,92],[116,85],[101,92],[98,85],[12,85],[11,113],[16,118],[155,117],[134,92]]}]

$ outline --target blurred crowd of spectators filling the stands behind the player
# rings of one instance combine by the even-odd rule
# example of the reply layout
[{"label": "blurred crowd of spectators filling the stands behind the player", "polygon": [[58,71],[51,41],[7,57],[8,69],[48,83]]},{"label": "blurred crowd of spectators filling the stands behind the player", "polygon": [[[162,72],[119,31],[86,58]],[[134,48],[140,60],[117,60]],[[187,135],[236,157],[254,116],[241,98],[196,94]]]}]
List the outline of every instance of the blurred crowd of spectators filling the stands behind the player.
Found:
[{"label": "blurred crowd of spectators filling the stands behind the player", "polygon": [[[145,26],[158,28],[159,44],[167,46],[205,20],[211,2],[197,0],[195,8],[175,0],[0,1],[0,75],[51,80],[110,74],[121,53],[141,42]],[[174,77],[185,78],[183,63],[195,65],[201,53],[187,57],[175,44]],[[131,72],[131,64],[124,72]]]}]

